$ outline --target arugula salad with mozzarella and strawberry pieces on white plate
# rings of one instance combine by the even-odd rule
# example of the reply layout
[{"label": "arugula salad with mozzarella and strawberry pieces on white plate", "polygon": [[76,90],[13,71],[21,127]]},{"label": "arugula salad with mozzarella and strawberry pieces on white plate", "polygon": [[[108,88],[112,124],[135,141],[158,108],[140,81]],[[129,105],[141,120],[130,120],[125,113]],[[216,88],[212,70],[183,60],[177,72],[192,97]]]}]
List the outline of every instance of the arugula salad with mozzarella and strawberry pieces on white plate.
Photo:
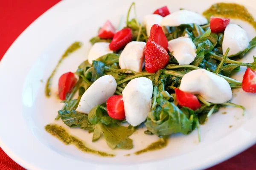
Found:
[{"label": "arugula salad with mozzarella and strawberry pieces on white plate", "polygon": [[[136,12],[129,19],[132,3],[124,28],[107,20],[90,40],[88,60],[59,78],[64,106],[56,119],[93,133],[93,142],[104,137],[111,149],[131,149],[129,136],[142,124],[145,135],[161,138],[158,146],[166,146],[163,141],[173,133],[187,135],[195,129],[200,141],[200,125],[219,108],[245,110],[230,102],[233,89],[256,93],[256,58],[237,61],[256,46],[256,37],[249,41],[241,26],[230,23],[230,5],[241,7],[218,3],[201,15],[164,6],[140,23]],[[243,66],[242,82],[231,78]],[[49,125],[46,129],[56,136]],[[69,140],[75,141],[72,136]]]}]

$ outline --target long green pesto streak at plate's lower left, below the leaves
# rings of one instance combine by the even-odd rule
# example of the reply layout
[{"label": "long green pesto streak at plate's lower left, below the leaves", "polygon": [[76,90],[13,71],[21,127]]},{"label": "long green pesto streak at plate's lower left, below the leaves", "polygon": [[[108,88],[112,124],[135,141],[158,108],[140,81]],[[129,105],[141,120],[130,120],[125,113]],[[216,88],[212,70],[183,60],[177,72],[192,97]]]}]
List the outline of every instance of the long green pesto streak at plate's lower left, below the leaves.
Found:
[{"label": "long green pesto streak at plate's lower left, below the leaves", "polygon": [[63,127],[59,125],[54,125],[54,124],[49,124],[45,126],[45,130],[49,132],[52,136],[55,136],[56,138],[60,139],[64,144],[73,144],[75,145],[79,150],[86,152],[86,153],[93,153],[99,156],[109,156],[113,157],[115,155],[113,154],[108,154],[105,152],[101,152],[98,150],[93,150],[90,149],[89,147],[86,147],[84,145],[84,142],[81,140],[77,139],[74,136],[71,136]]}]

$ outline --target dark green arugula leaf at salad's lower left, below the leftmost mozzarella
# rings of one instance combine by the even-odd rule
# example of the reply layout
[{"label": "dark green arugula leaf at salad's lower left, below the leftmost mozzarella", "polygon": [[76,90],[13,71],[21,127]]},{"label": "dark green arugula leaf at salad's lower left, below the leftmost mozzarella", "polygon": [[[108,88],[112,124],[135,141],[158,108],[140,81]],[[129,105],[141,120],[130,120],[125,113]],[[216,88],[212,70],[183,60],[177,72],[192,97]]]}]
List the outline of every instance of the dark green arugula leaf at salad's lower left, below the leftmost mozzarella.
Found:
[{"label": "dark green arugula leaf at salad's lower left, below the leftmost mozzarella", "polygon": [[81,129],[89,130],[89,133],[93,131],[93,125],[90,124],[87,114],[79,113],[75,110],[61,110],[58,111],[58,114],[61,117],[62,122],[64,122],[69,127],[78,126]]}]

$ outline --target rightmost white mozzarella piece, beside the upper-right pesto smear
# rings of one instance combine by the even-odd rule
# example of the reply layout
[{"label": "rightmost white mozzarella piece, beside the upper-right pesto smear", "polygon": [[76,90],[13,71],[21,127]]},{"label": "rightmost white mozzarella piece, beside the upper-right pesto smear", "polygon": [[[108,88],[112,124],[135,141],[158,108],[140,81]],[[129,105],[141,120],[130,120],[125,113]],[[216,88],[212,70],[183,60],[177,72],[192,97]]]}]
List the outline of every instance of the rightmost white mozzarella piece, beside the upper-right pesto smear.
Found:
[{"label": "rightmost white mozzarella piece, beside the upper-right pesto smear", "polygon": [[239,54],[248,46],[249,40],[246,31],[237,24],[227,25],[222,42],[223,54],[225,54],[227,48],[230,48],[228,56]]}]

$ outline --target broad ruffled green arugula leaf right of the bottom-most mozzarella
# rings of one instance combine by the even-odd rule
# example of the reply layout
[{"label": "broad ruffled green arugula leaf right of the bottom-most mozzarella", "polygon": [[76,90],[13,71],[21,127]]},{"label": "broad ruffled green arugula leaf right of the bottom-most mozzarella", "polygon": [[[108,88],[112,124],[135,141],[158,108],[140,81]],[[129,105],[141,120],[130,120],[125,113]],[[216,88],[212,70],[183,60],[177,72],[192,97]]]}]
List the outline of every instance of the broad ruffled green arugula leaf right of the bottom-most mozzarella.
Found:
[{"label": "broad ruffled green arugula leaf right of the bottom-most mozzarella", "polygon": [[[157,98],[159,107],[148,113],[145,125],[147,129],[157,136],[167,136],[181,132],[188,134],[192,131],[192,115],[186,115],[172,102],[163,98]],[[193,116],[192,116],[193,117]]]}]

